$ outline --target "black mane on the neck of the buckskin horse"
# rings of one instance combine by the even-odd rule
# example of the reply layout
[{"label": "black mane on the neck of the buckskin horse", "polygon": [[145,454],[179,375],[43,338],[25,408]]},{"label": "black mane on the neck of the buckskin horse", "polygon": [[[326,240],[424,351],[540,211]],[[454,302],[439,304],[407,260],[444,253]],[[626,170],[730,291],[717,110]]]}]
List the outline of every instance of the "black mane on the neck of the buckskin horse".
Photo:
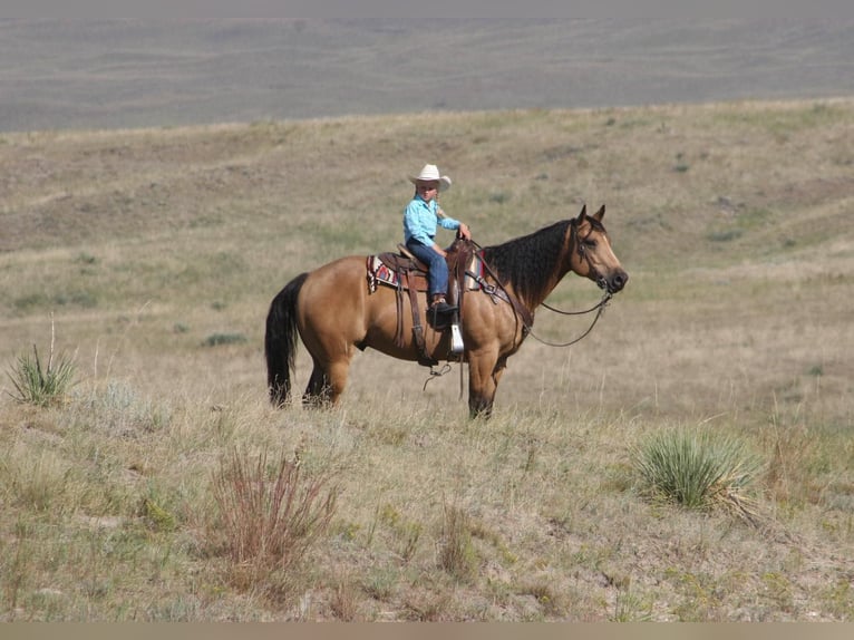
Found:
[{"label": "black mane on the neck of the buckskin horse", "polygon": [[483,256],[502,284],[512,284],[523,300],[541,297],[563,253],[569,227],[563,220],[504,244],[486,246]]}]

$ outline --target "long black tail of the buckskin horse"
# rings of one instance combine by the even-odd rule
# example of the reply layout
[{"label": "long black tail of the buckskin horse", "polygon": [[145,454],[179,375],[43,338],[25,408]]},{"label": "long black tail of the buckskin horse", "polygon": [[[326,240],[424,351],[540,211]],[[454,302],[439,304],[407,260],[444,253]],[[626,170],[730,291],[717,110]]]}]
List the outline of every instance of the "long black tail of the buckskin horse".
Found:
[{"label": "long black tail of the buckskin horse", "polygon": [[308,273],[301,273],[282,289],[270,304],[264,334],[266,386],[270,401],[282,407],[291,399],[291,370],[297,351],[297,298]]}]

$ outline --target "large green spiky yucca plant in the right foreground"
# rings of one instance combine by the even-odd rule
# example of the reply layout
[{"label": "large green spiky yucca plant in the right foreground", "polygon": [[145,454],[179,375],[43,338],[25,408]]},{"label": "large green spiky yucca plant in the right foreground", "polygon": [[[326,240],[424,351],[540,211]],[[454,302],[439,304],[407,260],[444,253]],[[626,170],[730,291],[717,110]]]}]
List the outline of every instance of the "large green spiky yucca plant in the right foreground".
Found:
[{"label": "large green spiky yucca plant in the right foreground", "polygon": [[753,521],[748,495],[761,469],[760,459],[731,436],[700,429],[662,431],[634,452],[641,491],[692,510],[725,506]]}]

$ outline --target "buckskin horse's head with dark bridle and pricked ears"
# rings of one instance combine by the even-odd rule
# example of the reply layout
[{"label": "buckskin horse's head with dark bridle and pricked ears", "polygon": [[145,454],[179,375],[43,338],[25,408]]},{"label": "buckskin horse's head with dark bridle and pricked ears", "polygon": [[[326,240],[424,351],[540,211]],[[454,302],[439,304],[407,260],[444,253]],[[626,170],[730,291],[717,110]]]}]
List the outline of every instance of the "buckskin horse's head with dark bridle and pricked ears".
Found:
[{"label": "buckskin horse's head with dark bridle and pricked ears", "polygon": [[625,287],[629,274],[611,249],[611,241],[602,224],[604,215],[604,205],[592,216],[588,215],[588,206],[584,205],[579,217],[572,221],[574,241],[570,241],[570,269],[590,278],[609,293],[617,293]]}]

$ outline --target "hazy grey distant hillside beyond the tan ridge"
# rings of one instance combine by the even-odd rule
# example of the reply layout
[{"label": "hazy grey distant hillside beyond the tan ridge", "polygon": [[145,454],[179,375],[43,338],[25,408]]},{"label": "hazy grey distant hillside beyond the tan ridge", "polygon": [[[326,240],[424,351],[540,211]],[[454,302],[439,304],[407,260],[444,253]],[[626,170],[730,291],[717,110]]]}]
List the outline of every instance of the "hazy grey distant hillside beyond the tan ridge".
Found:
[{"label": "hazy grey distant hillside beyond the tan ridge", "polygon": [[854,22],[0,21],[0,132],[854,93]]}]

